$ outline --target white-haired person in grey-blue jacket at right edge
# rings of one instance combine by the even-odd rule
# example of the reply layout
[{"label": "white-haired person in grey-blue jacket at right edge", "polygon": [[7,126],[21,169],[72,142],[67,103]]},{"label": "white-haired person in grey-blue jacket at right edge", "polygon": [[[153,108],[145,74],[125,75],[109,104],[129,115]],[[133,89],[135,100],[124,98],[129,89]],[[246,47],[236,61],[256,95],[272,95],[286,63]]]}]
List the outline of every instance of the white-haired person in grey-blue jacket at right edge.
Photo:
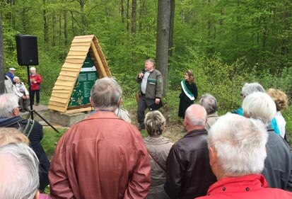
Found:
[{"label": "white-haired person in grey-blue jacket at right edge", "polygon": [[292,191],[291,148],[269,125],[276,115],[276,104],[267,93],[256,92],[243,100],[243,112],[247,118],[262,120],[267,126],[267,159],[262,174],[272,188]]}]

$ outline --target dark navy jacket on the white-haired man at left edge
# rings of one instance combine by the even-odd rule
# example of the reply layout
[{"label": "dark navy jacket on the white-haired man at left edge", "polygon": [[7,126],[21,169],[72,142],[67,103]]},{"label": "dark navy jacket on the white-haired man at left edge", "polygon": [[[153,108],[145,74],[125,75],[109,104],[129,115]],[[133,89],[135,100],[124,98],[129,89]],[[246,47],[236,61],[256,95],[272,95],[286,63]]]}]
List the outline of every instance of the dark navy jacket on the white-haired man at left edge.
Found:
[{"label": "dark navy jacket on the white-haired man at left edge", "polygon": [[[0,118],[0,127],[14,127],[18,130],[23,130],[25,125],[28,123],[28,120],[21,120],[22,118],[20,116],[12,117],[12,118]],[[18,123],[15,123],[13,125],[10,125],[14,123],[15,121],[19,121]],[[42,191],[45,189],[45,187],[49,184],[49,159],[47,158],[47,155],[45,154],[45,150],[42,148],[42,145],[40,144],[40,141],[42,140],[43,132],[42,132],[42,125],[35,121],[33,125],[33,130],[30,133],[30,136],[28,137],[28,140],[30,140],[30,147],[33,149],[35,154],[37,155],[37,158],[40,161],[40,190]]]}]

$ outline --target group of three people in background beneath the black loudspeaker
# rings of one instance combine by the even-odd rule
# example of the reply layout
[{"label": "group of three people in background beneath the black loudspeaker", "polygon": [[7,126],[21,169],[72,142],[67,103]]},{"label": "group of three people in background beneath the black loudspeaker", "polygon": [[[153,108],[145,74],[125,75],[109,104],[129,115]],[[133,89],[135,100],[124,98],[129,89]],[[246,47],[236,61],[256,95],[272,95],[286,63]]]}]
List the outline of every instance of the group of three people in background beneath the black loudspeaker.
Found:
[{"label": "group of three people in background beneath the black loudspeaker", "polygon": [[[18,96],[18,106],[22,113],[29,111],[28,106],[30,104],[40,105],[40,84],[42,83],[42,76],[36,73],[35,67],[30,67],[30,85],[29,89],[26,88],[25,84],[21,79],[15,75],[16,69],[11,67],[6,72],[4,78],[4,92],[13,93]],[[29,91],[28,91],[29,90]]]}]

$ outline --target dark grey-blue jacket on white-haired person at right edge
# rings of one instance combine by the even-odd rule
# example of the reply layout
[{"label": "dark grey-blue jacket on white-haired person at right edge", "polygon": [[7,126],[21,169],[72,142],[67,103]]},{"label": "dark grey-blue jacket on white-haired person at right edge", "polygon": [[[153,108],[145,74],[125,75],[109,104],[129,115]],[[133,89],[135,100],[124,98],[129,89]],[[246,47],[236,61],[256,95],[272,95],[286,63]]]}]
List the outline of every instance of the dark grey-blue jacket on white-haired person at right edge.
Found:
[{"label": "dark grey-blue jacket on white-haired person at right edge", "polygon": [[266,144],[267,158],[264,161],[262,174],[269,187],[292,191],[292,155],[291,148],[274,130],[268,130]]}]

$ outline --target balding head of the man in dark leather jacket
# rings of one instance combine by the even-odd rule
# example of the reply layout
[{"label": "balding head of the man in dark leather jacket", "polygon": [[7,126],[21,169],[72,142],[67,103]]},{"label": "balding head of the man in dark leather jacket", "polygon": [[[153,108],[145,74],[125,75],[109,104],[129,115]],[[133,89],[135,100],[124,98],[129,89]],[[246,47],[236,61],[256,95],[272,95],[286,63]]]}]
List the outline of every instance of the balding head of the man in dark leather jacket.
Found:
[{"label": "balding head of the man in dark leather jacket", "polygon": [[185,111],[185,118],[191,125],[206,125],[207,113],[203,106],[192,104]]}]

